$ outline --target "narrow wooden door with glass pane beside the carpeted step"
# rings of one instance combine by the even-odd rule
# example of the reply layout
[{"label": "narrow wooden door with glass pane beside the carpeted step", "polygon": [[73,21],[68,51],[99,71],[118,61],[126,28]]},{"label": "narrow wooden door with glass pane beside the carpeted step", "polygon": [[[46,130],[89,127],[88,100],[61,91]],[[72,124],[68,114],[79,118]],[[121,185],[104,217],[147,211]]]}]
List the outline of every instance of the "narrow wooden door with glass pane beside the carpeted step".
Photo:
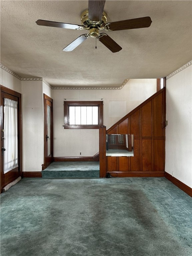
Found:
[{"label": "narrow wooden door with glass pane beside the carpeted step", "polygon": [[44,166],[53,162],[53,99],[44,96]]}]

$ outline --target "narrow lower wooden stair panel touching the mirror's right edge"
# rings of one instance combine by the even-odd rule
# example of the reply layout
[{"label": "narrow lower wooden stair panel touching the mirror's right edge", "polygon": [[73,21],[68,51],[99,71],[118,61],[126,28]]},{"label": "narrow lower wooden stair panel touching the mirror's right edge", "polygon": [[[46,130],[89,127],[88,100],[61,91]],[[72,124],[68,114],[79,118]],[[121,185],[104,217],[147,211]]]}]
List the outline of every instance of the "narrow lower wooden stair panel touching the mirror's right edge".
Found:
[{"label": "narrow lower wooden stair panel touching the mirror's right edge", "polygon": [[140,139],[134,139],[134,156],[130,157],[130,168],[132,172],[140,171]]}]

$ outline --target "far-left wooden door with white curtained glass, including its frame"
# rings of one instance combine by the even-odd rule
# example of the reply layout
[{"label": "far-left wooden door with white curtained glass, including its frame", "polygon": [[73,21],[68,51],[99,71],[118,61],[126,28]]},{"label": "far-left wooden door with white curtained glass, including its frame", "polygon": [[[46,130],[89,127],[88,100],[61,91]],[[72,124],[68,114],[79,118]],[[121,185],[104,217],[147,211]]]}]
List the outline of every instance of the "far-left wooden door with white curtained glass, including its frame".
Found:
[{"label": "far-left wooden door with white curtained glass, including its frame", "polygon": [[22,176],[21,94],[1,86],[0,104],[2,192],[3,187]]}]

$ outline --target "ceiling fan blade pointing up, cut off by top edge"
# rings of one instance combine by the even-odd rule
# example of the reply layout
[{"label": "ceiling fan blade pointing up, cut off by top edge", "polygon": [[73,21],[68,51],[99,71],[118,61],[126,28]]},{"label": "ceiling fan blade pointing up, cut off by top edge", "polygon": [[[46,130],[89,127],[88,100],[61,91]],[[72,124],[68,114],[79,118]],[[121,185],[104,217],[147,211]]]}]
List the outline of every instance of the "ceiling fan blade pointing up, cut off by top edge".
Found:
[{"label": "ceiling fan blade pointing up, cut off by top edge", "polygon": [[105,0],[89,0],[89,19],[92,21],[100,21],[105,6]]}]

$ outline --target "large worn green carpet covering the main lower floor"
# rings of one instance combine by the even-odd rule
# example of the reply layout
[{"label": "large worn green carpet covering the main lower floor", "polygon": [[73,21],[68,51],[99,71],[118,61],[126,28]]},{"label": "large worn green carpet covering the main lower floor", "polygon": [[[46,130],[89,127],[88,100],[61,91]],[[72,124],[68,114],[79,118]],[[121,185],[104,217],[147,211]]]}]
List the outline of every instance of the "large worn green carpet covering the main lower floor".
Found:
[{"label": "large worn green carpet covering the main lower floor", "polygon": [[1,256],[191,256],[192,198],[165,178],[24,178],[1,194]]}]

